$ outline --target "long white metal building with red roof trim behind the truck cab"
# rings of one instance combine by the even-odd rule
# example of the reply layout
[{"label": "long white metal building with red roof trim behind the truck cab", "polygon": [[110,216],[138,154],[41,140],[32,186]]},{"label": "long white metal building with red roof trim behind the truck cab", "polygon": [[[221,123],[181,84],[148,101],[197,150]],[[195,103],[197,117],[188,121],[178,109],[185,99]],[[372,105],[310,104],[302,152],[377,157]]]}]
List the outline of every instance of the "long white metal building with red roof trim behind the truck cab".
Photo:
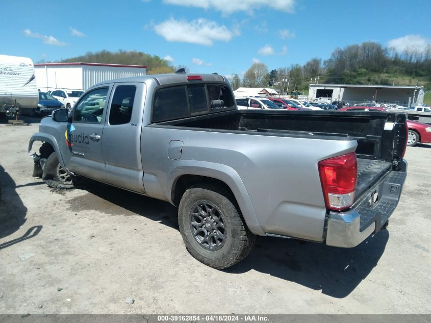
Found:
[{"label": "long white metal building with red roof trim behind the truck cab", "polygon": [[34,64],[38,88],[87,90],[94,84],[121,78],[144,76],[147,67],[99,63],[44,63]]}]

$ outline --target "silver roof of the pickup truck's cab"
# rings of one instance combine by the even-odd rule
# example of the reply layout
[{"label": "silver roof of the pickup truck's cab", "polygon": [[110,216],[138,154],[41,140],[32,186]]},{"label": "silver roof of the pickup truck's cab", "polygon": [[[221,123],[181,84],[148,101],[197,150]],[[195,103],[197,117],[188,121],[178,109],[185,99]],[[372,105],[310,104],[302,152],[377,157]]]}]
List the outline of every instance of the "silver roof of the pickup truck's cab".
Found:
[{"label": "silver roof of the pickup truck's cab", "polygon": [[200,81],[203,82],[227,82],[227,80],[219,74],[201,74],[201,73],[171,73],[171,74],[152,74],[146,76],[137,76],[131,78],[123,78],[123,79],[115,79],[109,80],[105,82],[100,82],[98,84],[110,84],[110,83],[119,83],[119,82],[145,82],[146,80],[156,80],[156,82],[160,85],[171,84],[171,83],[184,83],[184,82],[192,82],[195,79],[189,80],[189,77],[198,76],[201,77]]}]

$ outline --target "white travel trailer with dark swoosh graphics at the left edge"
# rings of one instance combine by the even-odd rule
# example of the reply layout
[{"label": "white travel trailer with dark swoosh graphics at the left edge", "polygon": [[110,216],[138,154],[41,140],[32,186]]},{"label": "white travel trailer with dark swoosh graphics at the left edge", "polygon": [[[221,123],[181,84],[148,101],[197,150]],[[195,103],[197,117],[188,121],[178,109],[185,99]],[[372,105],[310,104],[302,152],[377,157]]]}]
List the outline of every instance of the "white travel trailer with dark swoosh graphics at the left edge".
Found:
[{"label": "white travel trailer with dark swoosh graphics at the left edge", "polygon": [[15,102],[24,114],[32,114],[37,107],[33,62],[27,57],[0,55],[0,116],[14,109]]}]

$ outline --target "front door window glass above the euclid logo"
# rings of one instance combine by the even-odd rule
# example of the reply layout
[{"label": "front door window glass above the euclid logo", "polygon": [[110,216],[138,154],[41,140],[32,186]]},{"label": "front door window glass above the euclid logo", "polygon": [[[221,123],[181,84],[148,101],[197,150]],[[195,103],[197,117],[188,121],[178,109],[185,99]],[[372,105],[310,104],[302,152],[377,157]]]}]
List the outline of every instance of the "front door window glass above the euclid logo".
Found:
[{"label": "front door window glass above the euclid logo", "polygon": [[73,121],[102,123],[108,88],[99,88],[88,92],[75,106]]}]

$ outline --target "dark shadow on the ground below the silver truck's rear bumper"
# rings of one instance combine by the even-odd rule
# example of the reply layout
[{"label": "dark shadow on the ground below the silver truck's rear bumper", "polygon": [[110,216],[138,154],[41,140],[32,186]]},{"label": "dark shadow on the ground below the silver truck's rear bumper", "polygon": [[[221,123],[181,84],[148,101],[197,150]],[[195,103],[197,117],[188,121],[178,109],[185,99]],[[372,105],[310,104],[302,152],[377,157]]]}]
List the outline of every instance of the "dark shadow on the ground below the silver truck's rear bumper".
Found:
[{"label": "dark shadow on the ground below the silver truck's rear bumper", "polygon": [[257,270],[323,294],[343,298],[377,265],[389,239],[387,230],[352,249],[293,239],[258,237],[250,255],[227,272]]}]

